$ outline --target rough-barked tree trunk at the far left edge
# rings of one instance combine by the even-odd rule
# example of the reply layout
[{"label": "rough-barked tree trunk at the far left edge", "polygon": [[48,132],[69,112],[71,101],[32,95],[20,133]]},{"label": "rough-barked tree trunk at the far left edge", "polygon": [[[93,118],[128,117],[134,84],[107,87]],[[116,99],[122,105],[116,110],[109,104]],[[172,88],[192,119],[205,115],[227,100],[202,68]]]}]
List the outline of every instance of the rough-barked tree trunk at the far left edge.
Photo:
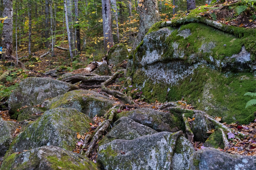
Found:
[{"label": "rough-barked tree trunk at the far left edge", "polygon": [[13,51],[13,1],[4,1],[3,17],[8,17],[3,23],[2,45],[5,49],[3,59],[12,58]]}]

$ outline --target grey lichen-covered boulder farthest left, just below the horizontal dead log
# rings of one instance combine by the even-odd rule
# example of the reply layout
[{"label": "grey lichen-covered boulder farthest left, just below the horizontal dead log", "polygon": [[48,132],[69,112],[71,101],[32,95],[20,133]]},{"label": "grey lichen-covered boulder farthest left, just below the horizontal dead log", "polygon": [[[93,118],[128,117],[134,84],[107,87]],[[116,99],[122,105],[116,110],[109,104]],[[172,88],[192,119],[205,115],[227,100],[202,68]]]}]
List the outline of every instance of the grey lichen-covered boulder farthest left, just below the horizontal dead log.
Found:
[{"label": "grey lichen-covered boulder farthest left, just below the horizontal dead log", "polygon": [[56,97],[75,89],[78,87],[70,83],[50,78],[28,77],[13,90],[8,99],[8,106],[16,111],[22,106],[34,106],[47,98]]}]

